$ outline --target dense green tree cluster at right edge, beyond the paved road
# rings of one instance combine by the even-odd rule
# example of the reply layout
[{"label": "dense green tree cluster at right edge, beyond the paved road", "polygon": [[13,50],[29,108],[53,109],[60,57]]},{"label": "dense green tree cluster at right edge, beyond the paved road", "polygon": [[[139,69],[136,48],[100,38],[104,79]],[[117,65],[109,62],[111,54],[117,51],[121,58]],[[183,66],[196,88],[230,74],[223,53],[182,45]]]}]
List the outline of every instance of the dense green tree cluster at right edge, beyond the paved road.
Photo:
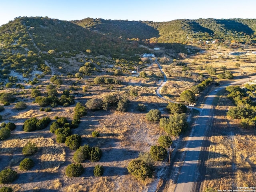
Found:
[{"label": "dense green tree cluster at right edge, beyond the paved road", "polygon": [[239,86],[228,86],[226,88],[230,94],[228,98],[236,104],[228,110],[227,115],[233,119],[240,119],[241,126],[244,128],[254,127],[256,125],[256,106],[251,99],[255,98],[255,85],[245,85],[245,88]]}]

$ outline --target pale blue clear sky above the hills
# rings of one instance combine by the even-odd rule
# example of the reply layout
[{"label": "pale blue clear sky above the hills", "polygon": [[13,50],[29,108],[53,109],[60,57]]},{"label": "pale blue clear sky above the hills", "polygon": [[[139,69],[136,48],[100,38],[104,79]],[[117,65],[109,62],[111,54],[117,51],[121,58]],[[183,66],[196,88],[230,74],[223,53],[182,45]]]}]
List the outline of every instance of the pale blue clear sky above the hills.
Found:
[{"label": "pale blue clear sky above the hills", "polygon": [[155,22],[256,18],[255,8],[255,0],[0,0],[0,26],[19,16]]}]

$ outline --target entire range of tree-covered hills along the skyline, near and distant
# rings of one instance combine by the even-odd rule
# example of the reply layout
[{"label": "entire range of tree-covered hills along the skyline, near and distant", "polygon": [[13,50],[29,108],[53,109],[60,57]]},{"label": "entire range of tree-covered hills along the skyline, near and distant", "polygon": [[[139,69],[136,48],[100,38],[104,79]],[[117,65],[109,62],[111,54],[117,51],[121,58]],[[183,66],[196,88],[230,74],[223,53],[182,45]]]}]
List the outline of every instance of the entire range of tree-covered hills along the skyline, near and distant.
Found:
[{"label": "entire range of tree-covered hills along the skyline, near and distant", "polygon": [[62,21],[19,17],[0,27],[2,52],[90,50],[94,55],[124,58],[148,52],[140,44],[194,44],[219,40],[255,44],[256,19],[198,19],[169,22],[86,18]]}]

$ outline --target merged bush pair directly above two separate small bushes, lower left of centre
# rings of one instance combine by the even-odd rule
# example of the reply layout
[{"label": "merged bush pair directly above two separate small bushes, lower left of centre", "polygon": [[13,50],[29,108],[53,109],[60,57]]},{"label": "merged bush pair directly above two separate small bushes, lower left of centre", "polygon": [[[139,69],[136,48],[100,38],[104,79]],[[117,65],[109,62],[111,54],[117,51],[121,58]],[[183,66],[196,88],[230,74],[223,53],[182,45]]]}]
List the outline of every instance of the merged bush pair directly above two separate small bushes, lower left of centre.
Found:
[{"label": "merged bush pair directly above two separate small bushes, lower left of centre", "polygon": [[77,163],[82,163],[89,159],[91,162],[99,161],[102,156],[102,151],[98,147],[90,147],[89,145],[80,146],[74,153],[73,160]]}]

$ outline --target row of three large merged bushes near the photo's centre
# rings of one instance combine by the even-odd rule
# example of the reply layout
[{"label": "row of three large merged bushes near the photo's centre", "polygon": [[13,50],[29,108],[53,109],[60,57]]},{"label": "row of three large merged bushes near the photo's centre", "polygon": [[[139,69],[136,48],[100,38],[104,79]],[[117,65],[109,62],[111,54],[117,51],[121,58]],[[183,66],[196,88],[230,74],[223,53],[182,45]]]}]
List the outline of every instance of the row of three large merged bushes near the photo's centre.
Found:
[{"label": "row of three large merged bushes near the photo's centre", "polygon": [[128,108],[130,101],[124,95],[110,94],[101,98],[93,98],[86,102],[86,107],[90,110],[109,110],[115,108],[117,111],[124,112]]}]

